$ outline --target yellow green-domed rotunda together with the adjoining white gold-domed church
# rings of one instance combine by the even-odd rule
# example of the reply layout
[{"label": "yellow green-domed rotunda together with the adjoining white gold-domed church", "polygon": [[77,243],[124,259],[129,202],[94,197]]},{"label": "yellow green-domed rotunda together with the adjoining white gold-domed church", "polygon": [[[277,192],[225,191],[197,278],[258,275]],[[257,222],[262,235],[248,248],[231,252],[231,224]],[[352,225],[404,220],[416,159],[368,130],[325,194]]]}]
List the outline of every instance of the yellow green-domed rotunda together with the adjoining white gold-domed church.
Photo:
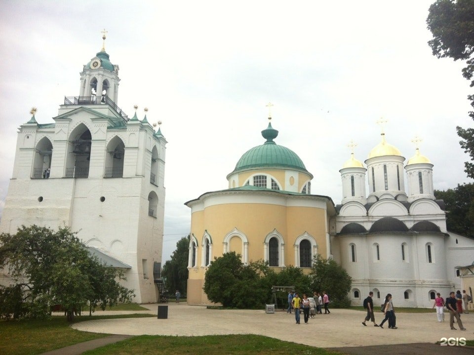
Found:
[{"label": "yellow green-domed rotunda together with the adjoining white gold-domed church", "polygon": [[311,194],[313,175],[295,152],[276,144],[277,135],[269,123],[266,141],[240,157],[227,189],[186,202],[189,304],[210,303],[202,290],[207,266],[230,251],[244,264],[261,259],[277,271],[309,272],[317,254],[333,258],[353,278],[349,298],[357,306],[373,291],[375,303],[391,293],[398,307],[431,307],[437,292],[446,297],[461,287],[456,266],[473,263],[474,239],[446,230],[434,165],[418,148],[404,165],[382,133],[365,164],[352,153],[340,170],[343,198],[335,206]]}]

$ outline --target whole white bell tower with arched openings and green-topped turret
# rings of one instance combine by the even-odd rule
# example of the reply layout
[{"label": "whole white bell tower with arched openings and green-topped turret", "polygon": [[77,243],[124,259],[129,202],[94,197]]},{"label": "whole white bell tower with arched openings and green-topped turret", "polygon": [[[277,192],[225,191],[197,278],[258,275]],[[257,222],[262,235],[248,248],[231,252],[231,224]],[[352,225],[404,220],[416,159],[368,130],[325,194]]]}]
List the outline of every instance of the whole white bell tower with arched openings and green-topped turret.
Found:
[{"label": "whole white bell tower with arched openings and green-topped turret", "polygon": [[54,123],[38,123],[32,109],[19,128],[0,232],[66,225],[92,254],[124,269],[134,302],[157,302],[166,140],[146,112],[130,119],[118,107],[118,65],[105,32],[103,40],[82,68],[79,95],[64,98]]}]

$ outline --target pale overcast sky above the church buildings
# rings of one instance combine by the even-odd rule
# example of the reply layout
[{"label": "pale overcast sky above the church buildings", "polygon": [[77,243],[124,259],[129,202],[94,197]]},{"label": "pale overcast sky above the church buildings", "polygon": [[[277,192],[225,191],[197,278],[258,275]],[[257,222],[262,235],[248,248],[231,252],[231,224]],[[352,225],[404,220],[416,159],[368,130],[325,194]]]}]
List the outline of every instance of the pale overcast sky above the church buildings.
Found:
[{"label": "pale overcast sky above the church buildings", "polygon": [[[0,214],[17,129],[37,107],[52,123],[79,72],[102,47],[119,65],[118,106],[148,107],[166,146],[162,261],[190,232],[184,205],[228,187],[240,156],[263,144],[273,103],[277,144],[314,175],[312,193],[342,195],[339,170],[387,141],[408,160],[411,140],[434,164],[435,189],[471,182],[456,126],[473,127],[462,62],[427,42],[434,0],[0,0]],[[368,189],[367,189],[368,191]]]}]

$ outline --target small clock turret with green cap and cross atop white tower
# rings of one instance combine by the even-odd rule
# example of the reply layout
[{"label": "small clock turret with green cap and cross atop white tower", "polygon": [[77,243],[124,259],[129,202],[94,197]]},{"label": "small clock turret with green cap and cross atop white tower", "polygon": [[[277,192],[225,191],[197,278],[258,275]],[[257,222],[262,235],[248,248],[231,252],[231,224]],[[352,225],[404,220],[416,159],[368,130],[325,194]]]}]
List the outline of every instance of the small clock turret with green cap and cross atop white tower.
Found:
[{"label": "small clock turret with green cap and cross atop white tower", "polygon": [[105,51],[107,31],[102,31],[102,49],[97,52],[80,73],[79,96],[93,100],[94,103],[118,101],[118,65],[110,62],[109,54]]}]

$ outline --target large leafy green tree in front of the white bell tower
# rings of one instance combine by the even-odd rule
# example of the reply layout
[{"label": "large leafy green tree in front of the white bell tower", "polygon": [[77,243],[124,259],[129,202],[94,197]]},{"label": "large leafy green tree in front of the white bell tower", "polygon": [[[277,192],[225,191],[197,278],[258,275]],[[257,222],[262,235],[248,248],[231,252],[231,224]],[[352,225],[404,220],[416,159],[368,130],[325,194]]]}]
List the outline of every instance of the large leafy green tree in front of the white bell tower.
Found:
[{"label": "large leafy green tree in front of the white bell tower", "polygon": [[117,281],[123,272],[91,257],[76,234],[37,225],[0,234],[0,267],[11,277],[9,286],[0,286],[1,317],[44,318],[61,305],[72,321],[87,301],[105,309],[131,300],[133,291]]}]

